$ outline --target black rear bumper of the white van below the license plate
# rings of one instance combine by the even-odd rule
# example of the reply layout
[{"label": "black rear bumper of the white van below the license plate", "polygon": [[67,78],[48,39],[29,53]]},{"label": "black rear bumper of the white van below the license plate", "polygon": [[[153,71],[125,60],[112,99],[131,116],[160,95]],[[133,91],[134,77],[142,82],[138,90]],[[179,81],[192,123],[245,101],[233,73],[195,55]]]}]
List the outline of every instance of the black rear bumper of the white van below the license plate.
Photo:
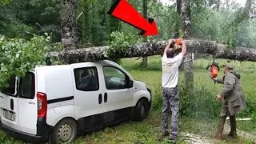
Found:
[{"label": "black rear bumper of the white van below the license plate", "polygon": [[[38,126],[38,124],[37,124]],[[48,129],[47,129],[48,128]],[[44,125],[44,127],[42,128],[42,123],[39,122],[39,126],[38,126],[38,132],[41,135],[34,135],[34,134],[28,134],[26,132],[22,132],[20,130],[15,130],[13,128],[11,128],[10,126],[6,126],[4,124],[2,124],[1,120],[0,120],[0,130],[2,130],[3,132],[5,132],[6,134],[10,134],[10,136],[23,140],[25,142],[46,142],[48,140],[48,136],[49,136],[49,132],[50,132],[50,126],[46,126]]]}]

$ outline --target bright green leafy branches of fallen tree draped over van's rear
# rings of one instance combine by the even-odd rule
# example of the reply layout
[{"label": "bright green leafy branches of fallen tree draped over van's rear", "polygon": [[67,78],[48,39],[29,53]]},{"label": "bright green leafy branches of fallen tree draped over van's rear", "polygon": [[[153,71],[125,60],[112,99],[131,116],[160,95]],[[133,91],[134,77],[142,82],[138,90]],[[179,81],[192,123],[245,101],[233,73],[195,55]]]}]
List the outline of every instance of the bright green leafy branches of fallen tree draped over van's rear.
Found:
[{"label": "bright green leafy branches of fallen tree draped over van's rear", "polygon": [[45,54],[58,50],[58,43],[50,43],[50,35],[34,35],[30,41],[22,38],[6,38],[0,35],[0,86],[6,86],[10,78],[22,77],[35,66],[44,65]]}]

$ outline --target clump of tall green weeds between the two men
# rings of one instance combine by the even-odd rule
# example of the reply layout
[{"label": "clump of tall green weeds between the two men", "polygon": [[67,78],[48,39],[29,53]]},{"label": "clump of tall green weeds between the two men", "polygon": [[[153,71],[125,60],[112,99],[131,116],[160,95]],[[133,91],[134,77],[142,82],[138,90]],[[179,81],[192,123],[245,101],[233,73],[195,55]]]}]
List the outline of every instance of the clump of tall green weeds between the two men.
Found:
[{"label": "clump of tall green weeds between the two men", "polygon": [[184,83],[180,84],[180,114],[193,118],[218,117],[221,103],[215,101],[215,95],[205,86],[194,86],[194,89],[190,90]]}]

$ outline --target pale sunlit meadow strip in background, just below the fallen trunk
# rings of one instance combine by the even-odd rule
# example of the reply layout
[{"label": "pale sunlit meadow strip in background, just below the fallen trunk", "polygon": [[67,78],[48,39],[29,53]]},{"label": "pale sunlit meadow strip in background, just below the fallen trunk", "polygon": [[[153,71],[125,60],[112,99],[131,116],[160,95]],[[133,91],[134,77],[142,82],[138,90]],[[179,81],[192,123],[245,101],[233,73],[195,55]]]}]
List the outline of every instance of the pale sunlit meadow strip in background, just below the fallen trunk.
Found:
[{"label": "pale sunlit meadow strip in background, just below the fallen trunk", "polygon": [[[120,64],[126,68],[134,76],[135,79],[139,79],[142,82],[146,82],[150,86],[160,85],[162,77],[161,58],[160,56],[152,56],[149,58],[149,66],[146,69],[142,69],[140,64],[142,60],[136,60],[136,58],[124,58]],[[225,59],[217,59],[219,66],[226,64]],[[256,93],[256,86],[254,79],[256,78],[256,62],[230,62],[234,64],[235,70],[242,75],[241,83],[242,88],[245,91],[246,97],[254,97]],[[206,67],[211,64],[210,58],[194,60],[194,84],[198,86],[207,86],[207,89],[213,93],[217,93],[222,88],[222,85],[214,84],[208,75]],[[218,73],[218,78],[223,76],[223,68],[221,67]],[[150,78],[148,77],[150,76]],[[180,73],[180,80],[182,80],[184,74]]]}]

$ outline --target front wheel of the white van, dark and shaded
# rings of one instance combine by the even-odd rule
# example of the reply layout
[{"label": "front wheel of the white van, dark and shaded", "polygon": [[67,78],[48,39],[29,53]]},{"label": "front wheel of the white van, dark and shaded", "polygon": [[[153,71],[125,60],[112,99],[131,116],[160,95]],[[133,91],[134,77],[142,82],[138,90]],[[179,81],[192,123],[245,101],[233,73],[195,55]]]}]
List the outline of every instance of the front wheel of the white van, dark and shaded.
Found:
[{"label": "front wheel of the white van, dark and shaded", "polygon": [[144,98],[140,99],[134,107],[133,120],[136,122],[142,122],[148,114],[147,103]]}]

